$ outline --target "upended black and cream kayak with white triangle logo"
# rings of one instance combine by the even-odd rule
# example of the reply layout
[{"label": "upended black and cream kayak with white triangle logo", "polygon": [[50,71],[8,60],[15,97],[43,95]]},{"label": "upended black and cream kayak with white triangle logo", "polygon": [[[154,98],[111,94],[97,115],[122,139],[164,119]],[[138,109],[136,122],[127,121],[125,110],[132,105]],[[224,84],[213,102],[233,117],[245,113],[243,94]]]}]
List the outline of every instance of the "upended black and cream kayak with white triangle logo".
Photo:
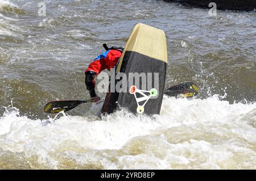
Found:
[{"label": "upended black and cream kayak with white triangle logo", "polygon": [[[115,74],[122,78],[113,82],[122,91],[106,94],[102,114],[113,113],[123,107],[132,113],[159,114],[167,71],[167,43],[163,30],[138,23],[125,45]],[[115,76],[117,77],[117,75]],[[140,78],[141,77],[141,78]],[[143,77],[143,78],[142,78]]]}]

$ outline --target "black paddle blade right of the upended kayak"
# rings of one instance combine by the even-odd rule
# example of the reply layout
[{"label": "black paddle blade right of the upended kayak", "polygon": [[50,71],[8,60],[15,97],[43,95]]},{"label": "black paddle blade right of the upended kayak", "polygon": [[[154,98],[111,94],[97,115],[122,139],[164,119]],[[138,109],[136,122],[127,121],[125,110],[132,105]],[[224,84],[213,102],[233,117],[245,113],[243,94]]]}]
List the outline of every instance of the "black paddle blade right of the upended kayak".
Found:
[{"label": "black paddle blade right of the upended kayak", "polygon": [[195,82],[184,82],[174,85],[164,91],[168,96],[175,96],[176,98],[192,98],[199,93],[199,86]]}]

